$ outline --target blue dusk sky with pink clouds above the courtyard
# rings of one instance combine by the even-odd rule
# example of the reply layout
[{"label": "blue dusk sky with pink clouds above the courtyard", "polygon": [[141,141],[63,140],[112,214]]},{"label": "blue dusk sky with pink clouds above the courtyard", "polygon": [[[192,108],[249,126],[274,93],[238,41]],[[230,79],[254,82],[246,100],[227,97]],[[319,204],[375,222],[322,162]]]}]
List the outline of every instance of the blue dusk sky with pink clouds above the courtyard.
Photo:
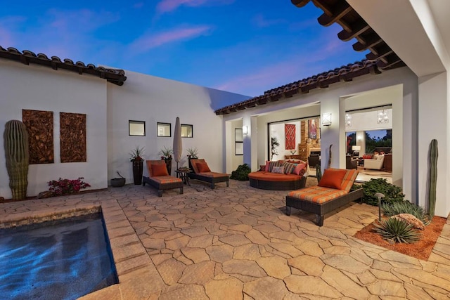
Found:
[{"label": "blue dusk sky with pink clouds above the courtyard", "polygon": [[365,52],[290,0],[8,1],[0,46],[259,96]]}]

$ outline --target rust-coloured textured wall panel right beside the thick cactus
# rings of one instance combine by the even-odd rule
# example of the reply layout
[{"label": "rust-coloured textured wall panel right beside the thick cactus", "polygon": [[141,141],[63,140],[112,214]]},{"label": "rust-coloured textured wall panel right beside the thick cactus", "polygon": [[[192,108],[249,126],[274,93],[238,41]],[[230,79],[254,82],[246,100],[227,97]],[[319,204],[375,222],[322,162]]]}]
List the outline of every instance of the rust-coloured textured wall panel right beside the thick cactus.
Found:
[{"label": "rust-coloured textured wall panel right beside the thick cactus", "polygon": [[22,122],[28,131],[30,164],[53,163],[53,112],[22,110]]}]

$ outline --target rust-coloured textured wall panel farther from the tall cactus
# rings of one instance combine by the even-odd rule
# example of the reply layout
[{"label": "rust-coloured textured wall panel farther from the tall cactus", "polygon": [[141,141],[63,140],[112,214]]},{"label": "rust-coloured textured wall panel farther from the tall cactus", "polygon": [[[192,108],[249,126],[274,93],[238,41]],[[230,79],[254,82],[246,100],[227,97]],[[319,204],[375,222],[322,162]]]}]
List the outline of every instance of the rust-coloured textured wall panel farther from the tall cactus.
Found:
[{"label": "rust-coloured textured wall panel farther from the tall cactus", "polygon": [[59,113],[61,162],[86,162],[86,115]]}]

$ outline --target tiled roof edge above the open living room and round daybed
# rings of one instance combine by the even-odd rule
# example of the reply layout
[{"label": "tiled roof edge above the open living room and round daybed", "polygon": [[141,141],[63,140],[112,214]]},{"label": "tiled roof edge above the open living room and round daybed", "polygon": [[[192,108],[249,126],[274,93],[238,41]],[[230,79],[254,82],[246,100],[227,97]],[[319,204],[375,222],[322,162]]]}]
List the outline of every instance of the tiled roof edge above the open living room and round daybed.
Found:
[{"label": "tiled roof edge above the open living room and round daybed", "polygon": [[276,89],[265,91],[264,95],[219,108],[219,110],[214,112],[216,115],[227,115],[231,112],[245,110],[246,108],[255,107],[257,105],[286,100],[293,97],[296,93],[308,93],[311,89],[327,88],[330,84],[336,82],[352,81],[354,77],[365,74],[380,74],[381,72],[378,70],[377,64],[378,61],[373,60],[362,60],[356,63],[349,63],[348,65],[337,67],[334,70],[322,72],[290,84],[285,84],[284,86],[279,86]]}]

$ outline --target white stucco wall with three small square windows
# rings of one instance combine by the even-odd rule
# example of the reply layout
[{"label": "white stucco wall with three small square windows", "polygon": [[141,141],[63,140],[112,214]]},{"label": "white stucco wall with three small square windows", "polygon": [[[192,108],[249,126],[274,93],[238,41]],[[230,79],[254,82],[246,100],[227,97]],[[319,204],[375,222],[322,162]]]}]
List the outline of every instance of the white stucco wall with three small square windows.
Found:
[{"label": "white stucco wall with three small square windows", "polygon": [[[246,96],[170,79],[126,71],[123,86],[108,84],[108,179],[118,177],[119,171],[133,182],[129,152],[144,147],[144,158],[160,159],[158,152],[172,148],[176,117],[181,124],[193,125],[193,138],[183,138],[183,155],[179,166],[187,166],[186,148],[197,148],[212,171],[225,171],[223,163],[224,135],[222,117],[214,107],[224,99],[231,103]],[[145,121],[146,136],[129,136],[129,120]],[[157,122],[172,124],[172,137],[157,137]],[[234,147],[233,154],[234,154]],[[176,164],[172,162],[172,175]],[[144,167],[144,176],[148,171]]]}]

